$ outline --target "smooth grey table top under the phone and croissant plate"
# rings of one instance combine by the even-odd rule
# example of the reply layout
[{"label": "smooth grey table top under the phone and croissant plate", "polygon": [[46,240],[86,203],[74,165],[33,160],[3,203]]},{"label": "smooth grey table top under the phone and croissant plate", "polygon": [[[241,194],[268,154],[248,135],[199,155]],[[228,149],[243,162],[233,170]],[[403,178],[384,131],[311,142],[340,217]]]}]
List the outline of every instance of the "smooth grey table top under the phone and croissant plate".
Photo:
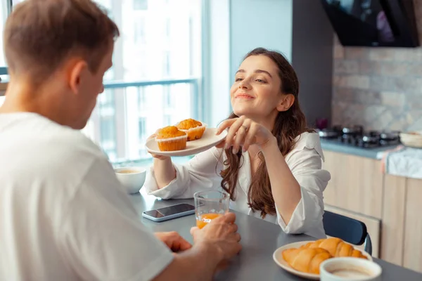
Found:
[{"label": "smooth grey table top under the phone and croissant plate", "polygon": [[[189,230],[195,226],[195,216],[184,216],[170,221],[155,223],[141,217],[143,211],[155,209],[172,204],[190,203],[193,200],[160,200],[148,196],[143,192],[131,196],[131,200],[138,211],[141,221],[153,231],[177,231],[182,237],[192,242]],[[272,255],[274,251],[292,242],[315,240],[307,235],[286,235],[281,228],[274,223],[262,221],[239,212],[236,213],[238,232],[241,234],[243,249],[231,262],[229,268],[218,273],[215,280],[304,280],[301,277],[292,275],[274,263]],[[379,259],[374,259],[383,268],[383,281],[397,280],[422,280],[422,274],[412,270],[395,266]]]}]

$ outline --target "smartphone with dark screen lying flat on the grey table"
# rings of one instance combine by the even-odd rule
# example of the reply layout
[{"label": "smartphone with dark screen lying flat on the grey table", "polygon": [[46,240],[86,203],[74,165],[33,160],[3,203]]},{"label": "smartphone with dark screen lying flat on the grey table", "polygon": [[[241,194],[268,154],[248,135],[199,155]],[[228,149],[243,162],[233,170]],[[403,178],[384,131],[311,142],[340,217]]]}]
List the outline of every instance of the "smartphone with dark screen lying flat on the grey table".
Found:
[{"label": "smartphone with dark screen lying flat on the grey table", "polygon": [[180,218],[181,216],[188,216],[195,214],[195,207],[191,204],[181,203],[168,207],[162,207],[149,211],[143,211],[142,216],[151,221],[167,221],[172,218]]}]

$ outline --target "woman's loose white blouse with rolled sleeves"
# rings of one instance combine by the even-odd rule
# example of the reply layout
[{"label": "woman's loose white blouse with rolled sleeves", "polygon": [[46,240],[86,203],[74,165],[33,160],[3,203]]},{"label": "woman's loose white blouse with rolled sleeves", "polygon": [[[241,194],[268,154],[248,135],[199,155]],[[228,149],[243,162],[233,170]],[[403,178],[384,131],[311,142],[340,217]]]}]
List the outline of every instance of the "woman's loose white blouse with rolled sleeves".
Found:
[{"label": "woman's loose white blouse with rolled sleeves", "polygon": [[[277,210],[276,216],[265,216],[265,221],[278,223],[285,233],[305,233],[316,238],[326,237],[322,224],[324,214],[325,190],[331,176],[321,169],[321,159],[324,155],[317,133],[302,133],[296,138],[296,145],[288,155],[286,163],[300,185],[302,199],[298,203],[289,223],[286,225]],[[148,173],[145,187],[150,195],[170,198],[192,198],[193,193],[208,188],[222,190],[220,171],[225,169],[222,148],[211,148],[201,152],[186,164],[173,164],[176,178],[164,188],[158,189],[155,182],[153,167]],[[260,211],[252,211],[248,206],[248,188],[251,180],[250,158],[248,152],[243,152],[243,163],[238,173],[236,185],[236,200],[230,202],[230,208],[256,218],[261,218]],[[277,209],[277,208],[276,208]]]}]

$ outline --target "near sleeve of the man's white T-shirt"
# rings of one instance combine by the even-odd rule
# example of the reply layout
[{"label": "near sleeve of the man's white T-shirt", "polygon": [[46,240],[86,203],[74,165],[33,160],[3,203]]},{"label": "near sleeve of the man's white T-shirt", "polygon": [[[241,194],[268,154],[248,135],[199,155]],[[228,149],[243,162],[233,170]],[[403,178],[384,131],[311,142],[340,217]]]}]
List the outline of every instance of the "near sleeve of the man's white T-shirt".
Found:
[{"label": "near sleeve of the man's white T-shirt", "polygon": [[69,203],[60,248],[82,280],[151,280],[173,254],[139,220],[106,161],[95,162]]}]

